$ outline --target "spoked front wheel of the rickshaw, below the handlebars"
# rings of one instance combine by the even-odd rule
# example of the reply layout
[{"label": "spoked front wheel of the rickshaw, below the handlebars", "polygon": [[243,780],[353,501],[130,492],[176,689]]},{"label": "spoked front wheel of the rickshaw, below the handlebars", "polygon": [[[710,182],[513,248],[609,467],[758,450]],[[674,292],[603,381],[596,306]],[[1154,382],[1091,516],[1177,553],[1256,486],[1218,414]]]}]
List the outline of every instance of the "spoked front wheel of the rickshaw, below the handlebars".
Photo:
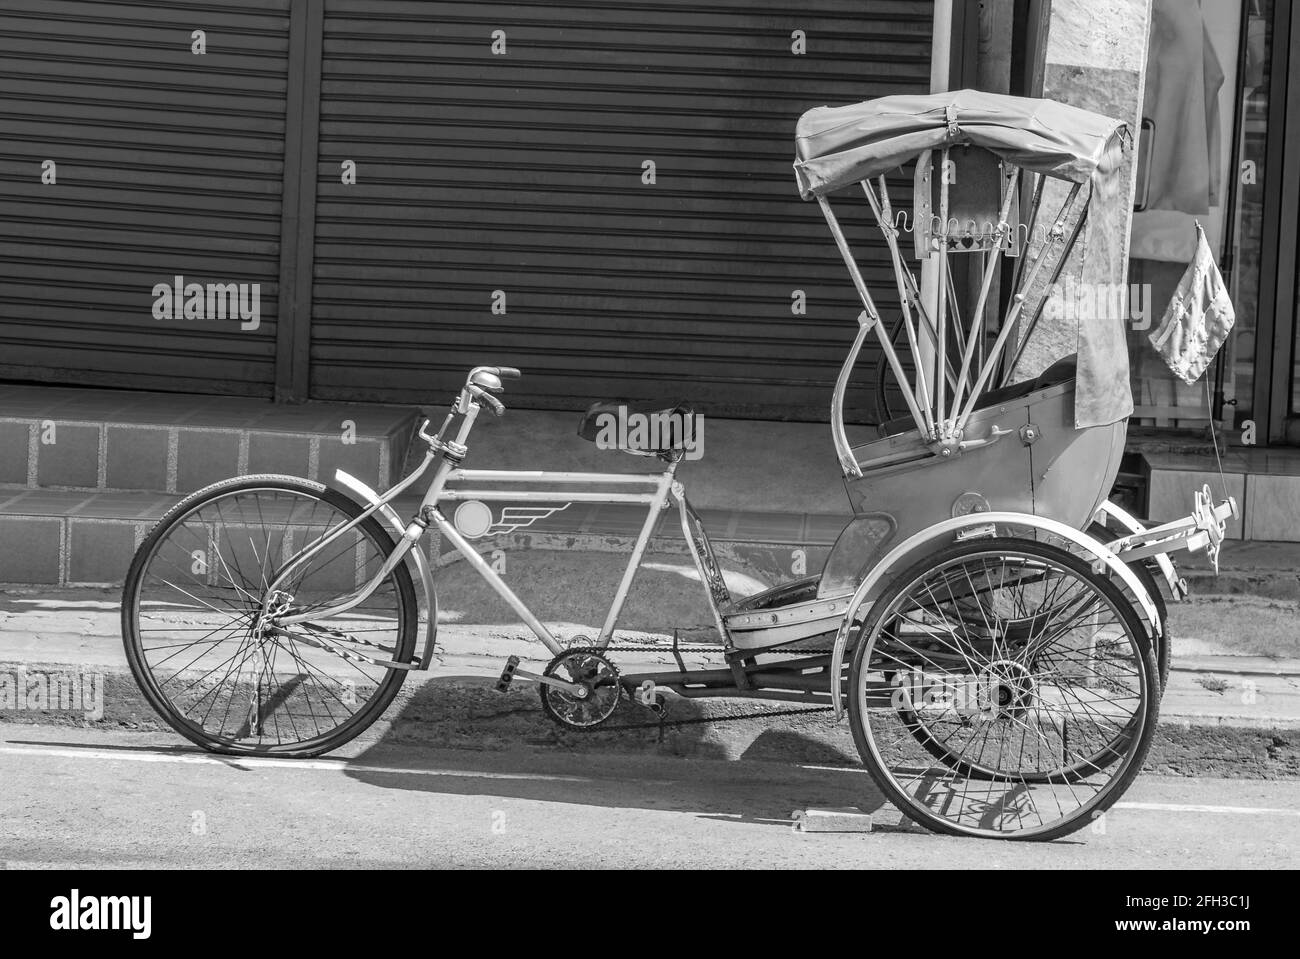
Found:
[{"label": "spoked front wheel of the rickshaw, below the handlebars", "polygon": [[[420,625],[406,563],[364,602],[329,612],[382,569],[395,548],[389,530],[369,516],[294,568],[361,512],[316,482],[246,476],[159,521],[126,576],[122,639],[136,684],[173,729],[213,752],[304,758],[342,746],[389,707],[406,677],[393,664],[411,663]],[[315,615],[276,628],[274,607]]]}]

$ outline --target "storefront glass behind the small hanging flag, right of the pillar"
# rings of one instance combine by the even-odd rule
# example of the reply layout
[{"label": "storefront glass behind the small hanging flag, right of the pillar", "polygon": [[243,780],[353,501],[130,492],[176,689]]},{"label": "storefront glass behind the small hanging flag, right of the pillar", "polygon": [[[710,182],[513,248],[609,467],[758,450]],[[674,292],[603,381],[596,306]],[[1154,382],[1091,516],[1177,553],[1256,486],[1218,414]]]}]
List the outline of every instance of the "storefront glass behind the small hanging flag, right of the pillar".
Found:
[{"label": "storefront glass behind the small hanging flag, right of the pillar", "polygon": [[[1130,247],[1130,283],[1140,296],[1134,313],[1141,313],[1128,334],[1134,416],[1145,425],[1197,428],[1210,416],[1204,383],[1174,377],[1148,339],[1192,259],[1196,222],[1225,268],[1236,308],[1223,347],[1225,418],[1251,416],[1273,0],[1244,6],[1243,43],[1243,0],[1152,5]],[[1216,368],[1205,376],[1213,381]]]}]

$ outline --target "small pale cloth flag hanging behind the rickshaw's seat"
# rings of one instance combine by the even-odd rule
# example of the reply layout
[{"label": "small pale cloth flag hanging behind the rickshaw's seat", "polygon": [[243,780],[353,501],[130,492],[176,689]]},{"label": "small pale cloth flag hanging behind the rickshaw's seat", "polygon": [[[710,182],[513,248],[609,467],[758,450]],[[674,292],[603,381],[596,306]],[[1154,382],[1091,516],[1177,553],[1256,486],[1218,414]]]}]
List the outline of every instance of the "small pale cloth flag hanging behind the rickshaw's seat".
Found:
[{"label": "small pale cloth flag hanging behind the rickshaw's seat", "polygon": [[1179,379],[1195,383],[1234,322],[1232,298],[1214,265],[1205,230],[1196,221],[1196,255],[1178,281],[1160,329],[1150,334],[1150,344]]}]

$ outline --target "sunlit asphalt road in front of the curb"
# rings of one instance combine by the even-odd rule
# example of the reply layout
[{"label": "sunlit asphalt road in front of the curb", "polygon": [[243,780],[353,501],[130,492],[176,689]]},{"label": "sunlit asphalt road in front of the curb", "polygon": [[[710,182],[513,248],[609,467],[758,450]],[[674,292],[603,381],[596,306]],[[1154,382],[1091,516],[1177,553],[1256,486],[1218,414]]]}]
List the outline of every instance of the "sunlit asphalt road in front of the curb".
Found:
[{"label": "sunlit asphalt road in front of the curb", "polygon": [[0,725],[0,864],[94,867],[1295,868],[1300,782],[1144,776],[1050,845],[798,833],[876,806],[859,769],[355,746],[231,760],[170,734]]}]

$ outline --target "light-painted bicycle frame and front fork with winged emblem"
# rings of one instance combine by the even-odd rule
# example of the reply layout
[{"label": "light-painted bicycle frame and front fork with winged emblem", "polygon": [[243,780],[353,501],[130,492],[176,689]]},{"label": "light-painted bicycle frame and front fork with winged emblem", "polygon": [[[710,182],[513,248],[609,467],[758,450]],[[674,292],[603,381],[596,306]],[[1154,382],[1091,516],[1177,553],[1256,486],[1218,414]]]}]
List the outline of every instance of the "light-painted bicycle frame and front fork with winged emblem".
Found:
[{"label": "light-painted bicycle frame and front fork with winged emblem", "polygon": [[[330,543],[359,526],[369,516],[384,513],[394,528],[400,528],[400,520],[398,520],[390,503],[396,496],[411,489],[411,486],[413,486],[415,482],[424,476],[434,460],[439,460],[416,516],[406,525],[398,543],[386,556],[380,570],[370,577],[365,585],[350,594],[346,594],[344,596],[341,596],[338,602],[326,608],[294,612],[292,607],[290,607],[287,611],[282,611],[280,613],[264,612],[264,621],[269,622],[272,626],[306,622],[308,620],[337,616],[364,603],[374,593],[374,590],[378,589],[380,583],[384,582],[384,580],[398,567],[398,564],[400,564],[408,554],[412,554],[412,550],[420,542],[425,530],[428,530],[432,525],[438,530],[438,534],[443,539],[455,547],[456,552],[464,556],[471,568],[478,573],[478,576],[481,576],[519,615],[520,620],[523,620],[538,641],[541,641],[541,643],[552,655],[559,655],[566,647],[555,639],[546,625],[537,619],[532,609],[529,609],[528,604],[510,589],[497,570],[493,569],[491,565],[478,554],[473,543],[471,543],[469,539],[467,539],[460,530],[456,529],[451,520],[443,516],[439,508],[441,504],[507,500],[515,503],[564,502],[566,504],[623,503],[645,505],[645,521],[641,524],[641,530],[637,534],[632,555],[628,557],[628,565],[623,572],[623,577],[619,581],[618,590],[615,591],[610,609],[594,643],[597,647],[604,648],[610,645],[614,635],[619,615],[621,613],[623,604],[632,589],[636,570],[641,565],[641,559],[644,557],[650,537],[654,533],[659,513],[670,505],[670,502],[672,502],[676,504],[680,515],[682,534],[688,544],[692,546],[692,556],[696,563],[696,569],[699,573],[701,582],[706,587],[706,593],[708,594],[708,603],[714,613],[715,625],[722,634],[724,643],[729,645],[727,629],[723,622],[718,602],[718,583],[720,582],[720,574],[716,572],[712,550],[707,541],[707,535],[703,534],[703,529],[699,526],[698,515],[696,515],[694,509],[690,507],[685,496],[685,490],[676,480],[680,456],[673,456],[662,473],[569,473],[546,470],[462,469],[459,463],[464,457],[465,441],[469,437],[469,431],[473,429],[473,424],[480,409],[481,405],[472,398],[467,399],[467,394],[462,391],[462,396],[458,399],[456,407],[452,409],[452,413],[447,416],[447,421],[443,422],[443,428],[439,430],[438,437],[430,438],[422,429],[420,430],[421,438],[424,438],[429,446],[421,464],[408,477],[396,483],[384,495],[374,494],[364,483],[359,482],[343,470],[338,470],[335,473],[335,481],[348,487],[354,494],[367,499],[367,508],[355,518],[337,526],[294,555],[268,586],[268,598],[276,596],[276,594],[280,593],[281,586],[287,582],[294,572],[300,569],[303,564],[309,563],[312,557],[317,556]],[[442,435],[456,412],[463,412],[464,417],[460,422],[456,439],[450,443],[443,442]],[[448,483],[452,485],[452,487],[448,487]],[[460,483],[484,483],[485,486],[460,486]],[[536,489],[537,486],[555,486],[562,489],[545,490]],[[594,487],[597,486],[641,489],[629,491],[608,491],[595,490]],[[692,533],[693,526],[699,531],[699,538]],[[419,551],[412,555],[422,560]],[[421,573],[424,570],[421,570]],[[386,663],[384,665],[406,669],[428,669],[429,663],[432,661],[433,643],[437,629],[434,622],[437,619],[437,607],[432,593],[432,578],[425,581],[425,589],[429,593],[430,622],[426,633],[425,650],[420,661],[410,664]],[[722,589],[725,590],[724,586],[722,586]]]}]

